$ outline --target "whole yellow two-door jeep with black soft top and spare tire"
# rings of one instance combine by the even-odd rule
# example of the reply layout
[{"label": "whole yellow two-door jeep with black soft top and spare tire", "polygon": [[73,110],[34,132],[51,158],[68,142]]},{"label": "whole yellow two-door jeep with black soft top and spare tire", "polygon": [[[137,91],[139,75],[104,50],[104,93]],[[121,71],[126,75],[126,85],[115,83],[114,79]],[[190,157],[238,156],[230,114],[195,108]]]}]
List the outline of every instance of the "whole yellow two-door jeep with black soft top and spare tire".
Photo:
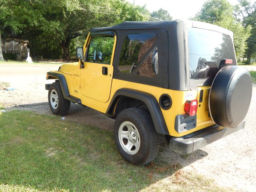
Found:
[{"label": "whole yellow two-door jeep with black soft top and spare tire", "polygon": [[192,20],[93,28],[78,64],[48,72],[50,109],[70,101],[115,119],[114,141],[129,163],[151,162],[159,134],[188,154],[244,128],[251,77],[238,67],[233,33]]}]

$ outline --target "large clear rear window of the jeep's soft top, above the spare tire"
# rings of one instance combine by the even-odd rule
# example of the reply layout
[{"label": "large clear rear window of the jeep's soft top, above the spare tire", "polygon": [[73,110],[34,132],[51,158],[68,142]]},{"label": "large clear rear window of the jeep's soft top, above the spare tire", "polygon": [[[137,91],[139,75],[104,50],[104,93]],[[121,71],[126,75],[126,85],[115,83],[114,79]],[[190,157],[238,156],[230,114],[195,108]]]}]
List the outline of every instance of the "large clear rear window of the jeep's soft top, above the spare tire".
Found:
[{"label": "large clear rear window of the jeep's soft top, above the spare tire", "polygon": [[222,59],[236,62],[232,40],[226,34],[190,28],[188,44],[190,79],[214,78]]}]

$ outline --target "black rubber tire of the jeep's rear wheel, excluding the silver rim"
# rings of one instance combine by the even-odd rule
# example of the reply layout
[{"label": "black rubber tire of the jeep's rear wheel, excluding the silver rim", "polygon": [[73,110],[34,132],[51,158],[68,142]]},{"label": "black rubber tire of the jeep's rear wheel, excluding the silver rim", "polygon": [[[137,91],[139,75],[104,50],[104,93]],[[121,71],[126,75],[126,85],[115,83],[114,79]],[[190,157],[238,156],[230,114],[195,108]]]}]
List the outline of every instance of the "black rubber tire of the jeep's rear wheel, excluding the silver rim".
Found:
[{"label": "black rubber tire of the jeep's rear wheel, excluding the silver rim", "polygon": [[[119,128],[124,122],[134,124],[139,133],[140,147],[136,154],[128,154],[123,148],[119,139]],[[152,118],[146,110],[140,108],[125,109],[118,114],[114,124],[114,140],[116,148],[121,156],[129,163],[134,165],[145,165],[151,162],[159,150],[158,133],[154,128]],[[128,142],[128,140],[127,140]]]}]

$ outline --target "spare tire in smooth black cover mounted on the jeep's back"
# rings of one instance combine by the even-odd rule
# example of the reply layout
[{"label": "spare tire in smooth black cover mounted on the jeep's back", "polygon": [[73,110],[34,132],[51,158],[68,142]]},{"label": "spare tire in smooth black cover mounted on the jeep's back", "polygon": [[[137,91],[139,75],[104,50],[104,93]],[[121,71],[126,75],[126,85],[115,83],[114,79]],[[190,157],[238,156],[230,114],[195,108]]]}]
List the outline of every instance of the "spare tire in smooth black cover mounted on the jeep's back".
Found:
[{"label": "spare tire in smooth black cover mounted on the jeep's back", "polygon": [[225,66],[214,78],[209,95],[215,124],[233,128],[244,120],[252,98],[252,79],[245,67]]}]

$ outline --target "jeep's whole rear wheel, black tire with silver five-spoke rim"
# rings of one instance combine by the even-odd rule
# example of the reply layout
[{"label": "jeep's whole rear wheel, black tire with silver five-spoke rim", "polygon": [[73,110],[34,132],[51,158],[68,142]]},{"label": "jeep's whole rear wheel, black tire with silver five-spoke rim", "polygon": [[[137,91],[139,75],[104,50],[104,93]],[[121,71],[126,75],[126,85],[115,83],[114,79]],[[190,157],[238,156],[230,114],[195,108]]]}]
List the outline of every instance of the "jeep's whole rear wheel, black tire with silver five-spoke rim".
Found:
[{"label": "jeep's whole rear wheel, black tire with silver five-spoke rim", "polygon": [[147,164],[158,154],[158,133],[150,114],[140,108],[129,108],[118,114],[114,140],[122,157],[134,165]]}]

